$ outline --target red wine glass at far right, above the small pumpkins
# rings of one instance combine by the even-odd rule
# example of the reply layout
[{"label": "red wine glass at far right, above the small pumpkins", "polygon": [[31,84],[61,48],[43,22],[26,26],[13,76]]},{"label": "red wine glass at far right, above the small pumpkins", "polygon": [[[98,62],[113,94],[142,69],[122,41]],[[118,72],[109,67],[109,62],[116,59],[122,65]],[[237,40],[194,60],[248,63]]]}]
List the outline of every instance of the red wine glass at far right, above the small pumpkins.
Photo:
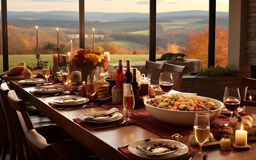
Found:
[{"label": "red wine glass at far right, above the small pumpkins", "polygon": [[230,119],[232,119],[232,114],[236,111],[240,105],[241,96],[239,93],[239,88],[237,87],[226,87],[223,101],[225,108],[230,111]]}]

